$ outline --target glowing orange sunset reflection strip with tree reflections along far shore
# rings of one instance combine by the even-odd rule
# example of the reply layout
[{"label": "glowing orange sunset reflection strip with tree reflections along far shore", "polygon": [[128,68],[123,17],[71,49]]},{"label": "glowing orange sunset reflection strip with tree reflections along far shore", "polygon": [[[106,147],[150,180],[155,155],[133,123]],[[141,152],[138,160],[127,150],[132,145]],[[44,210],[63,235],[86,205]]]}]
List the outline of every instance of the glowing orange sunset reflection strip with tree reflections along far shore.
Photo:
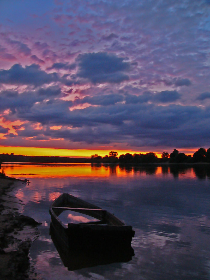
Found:
[{"label": "glowing orange sunset reflection strip with tree reflections along far shore", "polygon": [[[43,169],[44,167],[44,169]],[[52,163],[13,163],[2,164],[6,175],[18,176],[19,178],[37,178],[37,177],[107,177],[107,176],[132,176],[133,174],[146,175],[173,175],[174,178],[197,177],[199,179],[210,179],[209,164],[170,164],[157,166],[155,164],[147,165],[116,165],[116,164],[52,164]]]}]

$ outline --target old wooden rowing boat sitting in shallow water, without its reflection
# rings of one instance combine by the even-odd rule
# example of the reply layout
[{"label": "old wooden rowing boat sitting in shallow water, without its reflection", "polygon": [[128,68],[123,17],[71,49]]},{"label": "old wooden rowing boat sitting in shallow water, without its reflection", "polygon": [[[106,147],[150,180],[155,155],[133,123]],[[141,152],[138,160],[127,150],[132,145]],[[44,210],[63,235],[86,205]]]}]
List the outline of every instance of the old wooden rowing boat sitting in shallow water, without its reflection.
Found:
[{"label": "old wooden rowing boat sitting in shallow water, without its reflection", "polygon": [[[86,214],[97,221],[65,225],[58,216],[66,210]],[[131,246],[135,233],[131,226],[125,225],[106,210],[70,194],[64,193],[56,198],[49,213],[57,237],[62,239],[67,248],[101,249]]]}]

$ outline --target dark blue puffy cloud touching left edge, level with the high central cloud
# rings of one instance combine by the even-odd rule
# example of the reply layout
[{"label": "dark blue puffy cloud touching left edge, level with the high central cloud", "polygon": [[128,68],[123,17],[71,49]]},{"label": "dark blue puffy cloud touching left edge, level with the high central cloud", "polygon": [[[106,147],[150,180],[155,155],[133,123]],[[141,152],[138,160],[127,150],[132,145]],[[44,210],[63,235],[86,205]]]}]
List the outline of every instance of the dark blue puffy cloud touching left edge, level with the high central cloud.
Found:
[{"label": "dark blue puffy cloud touching left edge, level with the high central cloud", "polygon": [[58,81],[57,73],[47,74],[37,64],[25,68],[15,64],[9,70],[0,70],[0,83],[4,84],[40,86],[55,81]]}]

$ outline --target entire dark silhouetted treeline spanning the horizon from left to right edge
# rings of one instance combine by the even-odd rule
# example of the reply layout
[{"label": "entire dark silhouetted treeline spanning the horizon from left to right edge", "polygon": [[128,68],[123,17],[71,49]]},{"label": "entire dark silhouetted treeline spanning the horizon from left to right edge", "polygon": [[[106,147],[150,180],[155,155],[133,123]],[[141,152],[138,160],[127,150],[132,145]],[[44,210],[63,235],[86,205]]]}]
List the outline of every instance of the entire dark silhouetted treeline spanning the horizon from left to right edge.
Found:
[{"label": "entire dark silhouetted treeline spanning the horizon from left to right edge", "polygon": [[109,155],[105,155],[103,158],[101,155],[92,155],[91,158],[68,158],[58,156],[29,156],[29,155],[14,155],[0,154],[0,162],[62,162],[62,163],[119,163],[119,164],[145,164],[145,163],[196,163],[196,162],[208,162],[210,163],[210,148],[205,150],[204,148],[198,149],[193,156],[180,153],[177,149],[174,149],[172,153],[163,152],[161,158],[153,152],[146,154],[133,154],[127,153],[120,155],[115,151],[109,152]]}]

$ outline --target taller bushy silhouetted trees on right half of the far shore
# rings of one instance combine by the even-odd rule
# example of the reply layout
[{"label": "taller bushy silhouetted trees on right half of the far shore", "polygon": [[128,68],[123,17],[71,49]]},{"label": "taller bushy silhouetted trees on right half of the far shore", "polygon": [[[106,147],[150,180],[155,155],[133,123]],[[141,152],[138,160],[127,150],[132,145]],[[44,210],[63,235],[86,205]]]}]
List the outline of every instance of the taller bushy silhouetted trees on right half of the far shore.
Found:
[{"label": "taller bushy silhouetted trees on right half of the far shore", "polygon": [[174,149],[172,153],[163,152],[161,158],[153,153],[146,154],[133,154],[127,153],[117,157],[118,153],[111,151],[109,155],[101,157],[100,155],[92,155],[92,163],[119,163],[119,164],[144,164],[144,163],[196,163],[196,162],[209,162],[210,163],[210,148],[205,150],[204,148],[198,149],[193,156],[180,153],[177,149]]}]

